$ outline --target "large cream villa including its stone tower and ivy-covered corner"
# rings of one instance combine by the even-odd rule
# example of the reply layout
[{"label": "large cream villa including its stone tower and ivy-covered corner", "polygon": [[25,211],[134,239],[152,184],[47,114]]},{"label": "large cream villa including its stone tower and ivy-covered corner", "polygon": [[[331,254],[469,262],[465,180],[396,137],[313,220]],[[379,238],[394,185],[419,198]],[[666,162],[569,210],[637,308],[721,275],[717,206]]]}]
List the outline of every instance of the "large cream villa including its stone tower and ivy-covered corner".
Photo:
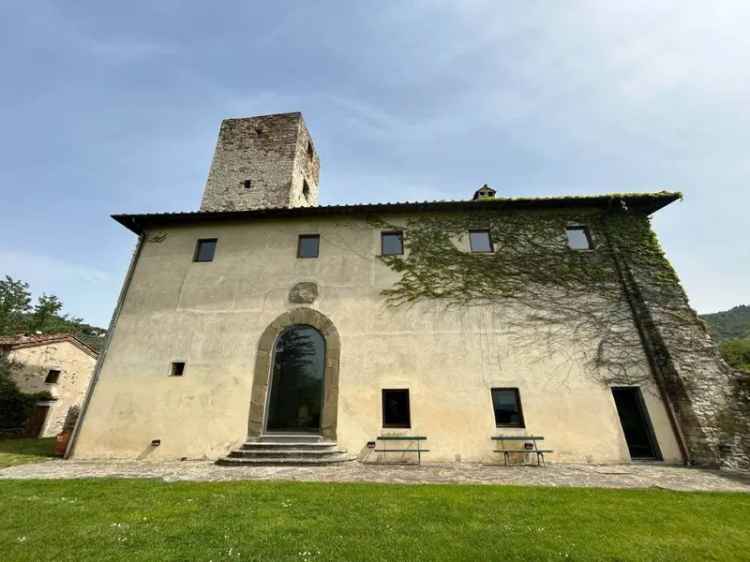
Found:
[{"label": "large cream villa including its stone tower and ivy-covered corner", "polygon": [[200,211],[114,216],[138,247],[68,456],[741,456],[649,225],[679,193],[321,206],[319,170],[301,114],[227,119]]}]

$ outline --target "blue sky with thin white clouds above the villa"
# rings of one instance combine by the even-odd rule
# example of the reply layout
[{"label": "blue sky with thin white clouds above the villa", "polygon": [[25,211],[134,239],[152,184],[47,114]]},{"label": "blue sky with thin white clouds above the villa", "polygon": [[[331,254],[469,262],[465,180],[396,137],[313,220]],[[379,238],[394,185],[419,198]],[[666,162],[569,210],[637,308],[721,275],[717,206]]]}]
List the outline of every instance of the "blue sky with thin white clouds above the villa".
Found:
[{"label": "blue sky with thin white clouds above the villa", "polygon": [[[615,4],[626,4],[616,6]],[[750,3],[16,2],[0,274],[106,326],[135,237],[198,208],[219,123],[302,111],[321,202],[684,192],[700,312],[750,303]]]}]

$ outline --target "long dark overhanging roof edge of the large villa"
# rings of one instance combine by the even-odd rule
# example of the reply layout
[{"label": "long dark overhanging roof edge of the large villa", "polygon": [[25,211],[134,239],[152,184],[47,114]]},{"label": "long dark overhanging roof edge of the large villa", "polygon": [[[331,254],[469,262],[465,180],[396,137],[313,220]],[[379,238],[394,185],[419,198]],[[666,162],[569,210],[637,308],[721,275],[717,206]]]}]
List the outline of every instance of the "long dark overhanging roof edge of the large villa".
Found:
[{"label": "long dark overhanging roof edge of the large villa", "polygon": [[189,211],[177,213],[115,214],[112,218],[127,229],[141,234],[150,226],[196,222],[237,221],[277,217],[310,217],[370,213],[433,212],[477,209],[598,207],[614,208],[623,203],[631,210],[651,214],[682,198],[672,191],[658,193],[609,193],[603,195],[555,197],[495,197],[475,201],[421,201],[401,203],[358,203],[316,207],[269,207],[245,211]]}]

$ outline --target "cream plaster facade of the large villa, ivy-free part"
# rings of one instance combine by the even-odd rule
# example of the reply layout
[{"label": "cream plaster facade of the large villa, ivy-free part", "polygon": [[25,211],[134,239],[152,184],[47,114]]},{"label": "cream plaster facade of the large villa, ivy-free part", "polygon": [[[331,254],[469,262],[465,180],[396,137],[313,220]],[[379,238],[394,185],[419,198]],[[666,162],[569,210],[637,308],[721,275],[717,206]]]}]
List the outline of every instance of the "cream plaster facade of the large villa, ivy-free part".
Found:
[{"label": "cream plaster facade of the large villa, ivy-free part", "polygon": [[[320,257],[298,259],[297,236],[310,233],[321,236]],[[213,262],[192,261],[198,238],[218,238]],[[320,296],[310,306],[341,337],[337,436],[350,453],[367,455],[366,443],[386,432],[407,433],[428,437],[428,461],[499,462],[490,436],[527,432],[545,436],[551,461],[629,460],[611,391],[580,362],[593,343],[571,333],[564,356],[519,347],[505,322],[514,312],[500,307],[388,308],[380,291],[398,276],[379,251],[379,230],[344,217],[147,233],[74,456],[216,458],[236,447],[259,337],[300,306],[289,303],[290,288],[313,281]],[[172,361],[186,361],[183,377],[168,376]],[[495,427],[493,387],[520,389],[524,430]],[[410,389],[411,429],[381,427],[383,388]],[[665,461],[680,461],[658,392],[643,391]]]}]

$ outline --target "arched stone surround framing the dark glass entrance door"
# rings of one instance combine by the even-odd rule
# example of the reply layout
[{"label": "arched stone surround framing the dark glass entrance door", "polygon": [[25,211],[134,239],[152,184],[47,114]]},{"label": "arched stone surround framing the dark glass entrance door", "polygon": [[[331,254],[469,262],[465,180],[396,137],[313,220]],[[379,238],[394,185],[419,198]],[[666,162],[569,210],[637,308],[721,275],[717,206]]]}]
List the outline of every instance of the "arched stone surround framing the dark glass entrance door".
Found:
[{"label": "arched stone surround framing the dark glass entrance door", "polygon": [[[322,341],[317,341],[316,334]],[[322,361],[322,404],[320,413],[316,420],[316,407],[312,403],[314,390],[308,389],[308,400],[297,400],[299,404],[293,404],[285,408],[284,389],[279,386],[279,369],[285,368],[284,361],[293,361],[293,357],[280,356],[280,362],[274,367],[275,354],[279,351],[284,354],[285,344],[292,343],[294,339],[303,336],[312,344],[315,350],[310,352],[319,353],[323,348]],[[253,378],[252,394],[250,397],[250,416],[248,422],[248,437],[255,438],[267,429],[271,431],[291,431],[296,425],[303,431],[314,431],[319,427],[320,434],[328,439],[336,439],[336,417],[338,411],[339,390],[339,357],[341,355],[341,342],[338,331],[326,316],[311,308],[295,308],[279,316],[265,329],[258,342],[258,352],[255,359],[255,376]],[[306,367],[306,372],[312,378],[318,378],[312,371],[316,370],[315,358]],[[289,363],[287,363],[288,365]],[[276,371],[274,373],[273,371]],[[274,374],[277,375],[277,392],[273,390]],[[296,376],[296,375],[295,375]],[[291,390],[294,389],[293,383]],[[299,383],[301,384],[301,383]],[[287,391],[290,390],[287,388]],[[269,395],[270,393],[270,395]],[[289,394],[291,395],[291,394]],[[304,402],[304,403],[303,403]],[[270,417],[269,417],[270,414]],[[293,419],[292,419],[293,418]],[[267,428],[267,422],[270,427]]]}]

